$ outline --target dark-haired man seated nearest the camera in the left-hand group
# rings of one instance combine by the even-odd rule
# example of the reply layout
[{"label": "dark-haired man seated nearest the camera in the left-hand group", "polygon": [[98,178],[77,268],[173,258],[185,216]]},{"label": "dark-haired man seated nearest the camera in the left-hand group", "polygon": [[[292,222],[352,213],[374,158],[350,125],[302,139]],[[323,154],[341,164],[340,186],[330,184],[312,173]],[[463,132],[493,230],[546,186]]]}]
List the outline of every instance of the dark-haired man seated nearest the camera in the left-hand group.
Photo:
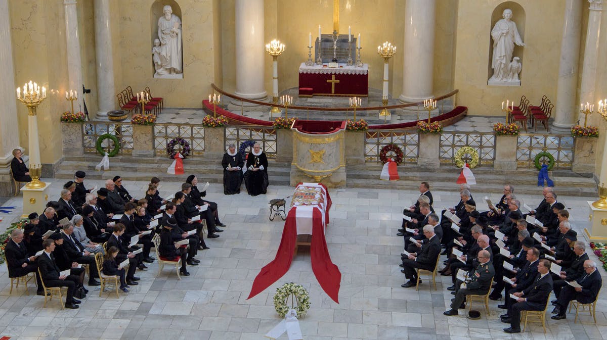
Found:
[{"label": "dark-haired man seated nearest the camera in the left-hand group", "polygon": [[42,242],[44,247],[44,253],[38,256],[36,260],[41,273],[41,279],[44,281],[46,287],[67,287],[66,294],[66,308],[76,309],[80,300],[75,299],[74,293],[76,292],[76,285],[78,282],[78,276],[75,275],[61,275],[61,270],[55,264],[53,251],[55,250],[55,241],[52,239],[45,239]]}]

